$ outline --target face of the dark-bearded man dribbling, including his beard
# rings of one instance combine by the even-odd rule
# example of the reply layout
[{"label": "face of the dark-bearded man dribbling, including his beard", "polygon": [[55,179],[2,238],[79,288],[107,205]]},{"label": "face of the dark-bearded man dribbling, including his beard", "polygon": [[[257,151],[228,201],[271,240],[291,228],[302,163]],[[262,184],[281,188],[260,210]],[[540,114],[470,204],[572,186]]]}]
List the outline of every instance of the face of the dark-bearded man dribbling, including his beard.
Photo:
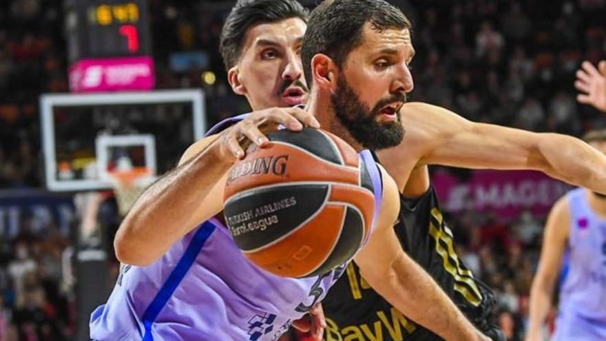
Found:
[{"label": "face of the dark-bearded man dribbling, including his beard", "polygon": [[415,54],[407,29],[364,26],[362,44],[348,54],[331,96],[339,121],[368,149],[401,143],[400,109],[412,91],[408,64]]}]

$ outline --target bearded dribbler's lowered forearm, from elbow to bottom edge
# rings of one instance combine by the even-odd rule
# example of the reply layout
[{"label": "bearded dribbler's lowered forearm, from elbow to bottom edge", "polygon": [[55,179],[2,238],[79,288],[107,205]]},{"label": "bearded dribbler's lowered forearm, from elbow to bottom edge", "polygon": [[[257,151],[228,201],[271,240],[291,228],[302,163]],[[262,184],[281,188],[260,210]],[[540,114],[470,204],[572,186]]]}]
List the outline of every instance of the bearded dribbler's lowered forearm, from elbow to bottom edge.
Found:
[{"label": "bearded dribbler's lowered forearm, from elbow to bottom edge", "polygon": [[445,340],[485,340],[428,273],[408,256],[395,260],[388,273],[386,278],[366,279],[405,316]]}]

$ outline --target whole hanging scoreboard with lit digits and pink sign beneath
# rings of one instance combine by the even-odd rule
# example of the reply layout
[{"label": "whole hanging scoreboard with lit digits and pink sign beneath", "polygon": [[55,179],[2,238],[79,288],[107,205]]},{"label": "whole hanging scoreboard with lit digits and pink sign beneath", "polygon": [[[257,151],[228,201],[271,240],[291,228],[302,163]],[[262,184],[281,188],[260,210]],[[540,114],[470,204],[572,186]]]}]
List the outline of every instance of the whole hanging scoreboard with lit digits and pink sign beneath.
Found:
[{"label": "whole hanging scoreboard with lit digits and pink sign beneath", "polygon": [[72,92],[154,88],[146,0],[65,0]]}]

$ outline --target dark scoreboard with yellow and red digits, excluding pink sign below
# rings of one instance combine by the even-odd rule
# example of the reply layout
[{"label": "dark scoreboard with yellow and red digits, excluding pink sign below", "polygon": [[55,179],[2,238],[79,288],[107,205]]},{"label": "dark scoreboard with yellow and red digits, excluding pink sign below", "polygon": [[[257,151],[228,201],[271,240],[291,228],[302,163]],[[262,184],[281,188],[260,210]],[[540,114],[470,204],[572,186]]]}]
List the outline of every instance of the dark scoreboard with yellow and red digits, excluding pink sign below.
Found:
[{"label": "dark scoreboard with yellow and red digits, excluding pink sign below", "polygon": [[151,55],[145,0],[69,0],[66,2],[70,61]]}]

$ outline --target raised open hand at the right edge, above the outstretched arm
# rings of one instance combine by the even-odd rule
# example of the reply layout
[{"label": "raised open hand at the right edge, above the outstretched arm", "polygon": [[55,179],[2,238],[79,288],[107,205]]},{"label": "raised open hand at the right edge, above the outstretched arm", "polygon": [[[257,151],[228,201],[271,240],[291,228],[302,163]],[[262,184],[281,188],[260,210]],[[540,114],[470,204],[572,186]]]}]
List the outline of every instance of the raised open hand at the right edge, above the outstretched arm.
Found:
[{"label": "raised open hand at the right edge, above the outstretched arm", "polygon": [[576,72],[574,87],[580,92],[576,96],[579,103],[589,104],[597,110],[606,112],[606,61],[600,61],[598,68],[584,61]]}]

